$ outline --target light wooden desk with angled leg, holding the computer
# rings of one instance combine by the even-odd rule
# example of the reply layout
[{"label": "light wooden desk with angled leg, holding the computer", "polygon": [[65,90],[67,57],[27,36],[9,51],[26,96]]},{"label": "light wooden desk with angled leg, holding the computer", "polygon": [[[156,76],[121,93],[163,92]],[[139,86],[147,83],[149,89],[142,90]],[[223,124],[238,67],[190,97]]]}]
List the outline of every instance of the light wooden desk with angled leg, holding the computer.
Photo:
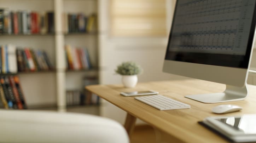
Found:
[{"label": "light wooden desk with angled leg, holding the computer", "polygon": [[[208,116],[223,116],[211,112],[221,104],[235,104],[244,109],[240,112],[225,115],[242,115],[256,113],[256,86],[249,85],[249,96],[245,100],[226,103],[205,104],[188,98],[185,95],[222,92],[225,85],[203,80],[173,80],[162,82],[139,83],[134,88],[122,85],[91,85],[86,88],[127,112],[125,128],[132,132],[136,118],[145,121],[168,134],[174,142],[222,143],[228,142],[210,130],[199,125]],[[120,92],[155,90],[160,94],[191,105],[190,109],[159,111],[141,103],[134,97],[124,97]]]}]

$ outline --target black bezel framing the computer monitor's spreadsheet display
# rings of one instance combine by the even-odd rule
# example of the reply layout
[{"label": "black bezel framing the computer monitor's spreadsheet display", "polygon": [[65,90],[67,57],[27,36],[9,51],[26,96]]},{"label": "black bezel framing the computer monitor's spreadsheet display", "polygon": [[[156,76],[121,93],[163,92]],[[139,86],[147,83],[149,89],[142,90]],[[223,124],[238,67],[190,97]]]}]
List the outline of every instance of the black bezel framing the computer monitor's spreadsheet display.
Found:
[{"label": "black bezel framing the computer monitor's spreadsheet display", "polygon": [[[179,0],[176,1],[175,10],[173,14],[173,22],[171,24],[171,30],[169,33],[167,50],[165,53],[165,60],[181,61],[186,63],[196,63],[204,65],[215,65],[224,67],[236,67],[248,69],[250,54],[252,51],[252,43],[254,40],[255,24],[256,24],[256,3],[254,6],[254,13],[251,22],[250,34],[248,39],[248,44],[246,48],[246,54],[242,55],[231,55],[231,54],[214,54],[214,53],[195,53],[195,52],[175,52],[169,51],[170,39],[172,35],[173,25],[176,17],[176,7]],[[218,58],[216,58],[218,57]],[[207,60],[206,60],[207,59]]]}]

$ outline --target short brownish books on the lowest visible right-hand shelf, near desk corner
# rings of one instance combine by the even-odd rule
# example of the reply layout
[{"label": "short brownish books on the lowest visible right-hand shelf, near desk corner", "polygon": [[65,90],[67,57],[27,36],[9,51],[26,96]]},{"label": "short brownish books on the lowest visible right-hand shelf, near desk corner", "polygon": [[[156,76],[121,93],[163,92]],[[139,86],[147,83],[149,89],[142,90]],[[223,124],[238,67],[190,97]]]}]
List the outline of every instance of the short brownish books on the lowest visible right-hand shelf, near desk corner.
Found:
[{"label": "short brownish books on the lowest visible right-hand shelf, near desk corner", "polygon": [[93,93],[79,90],[66,91],[67,105],[98,105],[99,97]]}]

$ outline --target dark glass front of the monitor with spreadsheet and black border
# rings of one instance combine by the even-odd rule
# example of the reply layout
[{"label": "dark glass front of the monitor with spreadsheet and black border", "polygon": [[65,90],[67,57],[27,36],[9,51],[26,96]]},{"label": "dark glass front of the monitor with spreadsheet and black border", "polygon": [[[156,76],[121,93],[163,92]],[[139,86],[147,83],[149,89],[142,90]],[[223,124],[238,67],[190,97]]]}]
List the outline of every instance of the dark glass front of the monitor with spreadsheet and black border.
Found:
[{"label": "dark glass front of the monitor with spreadsheet and black border", "polygon": [[255,0],[177,0],[165,60],[248,68]]}]

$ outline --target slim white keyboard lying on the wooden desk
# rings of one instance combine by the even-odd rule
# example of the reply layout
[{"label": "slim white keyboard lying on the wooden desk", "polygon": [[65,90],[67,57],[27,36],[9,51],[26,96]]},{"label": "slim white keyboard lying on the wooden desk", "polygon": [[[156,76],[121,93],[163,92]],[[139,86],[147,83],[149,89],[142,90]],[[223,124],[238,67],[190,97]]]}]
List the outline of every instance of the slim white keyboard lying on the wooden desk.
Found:
[{"label": "slim white keyboard lying on the wooden desk", "polygon": [[135,97],[136,100],[150,105],[158,110],[173,110],[173,109],[187,109],[190,105],[179,102],[177,100],[162,96],[162,95],[151,95]]}]

